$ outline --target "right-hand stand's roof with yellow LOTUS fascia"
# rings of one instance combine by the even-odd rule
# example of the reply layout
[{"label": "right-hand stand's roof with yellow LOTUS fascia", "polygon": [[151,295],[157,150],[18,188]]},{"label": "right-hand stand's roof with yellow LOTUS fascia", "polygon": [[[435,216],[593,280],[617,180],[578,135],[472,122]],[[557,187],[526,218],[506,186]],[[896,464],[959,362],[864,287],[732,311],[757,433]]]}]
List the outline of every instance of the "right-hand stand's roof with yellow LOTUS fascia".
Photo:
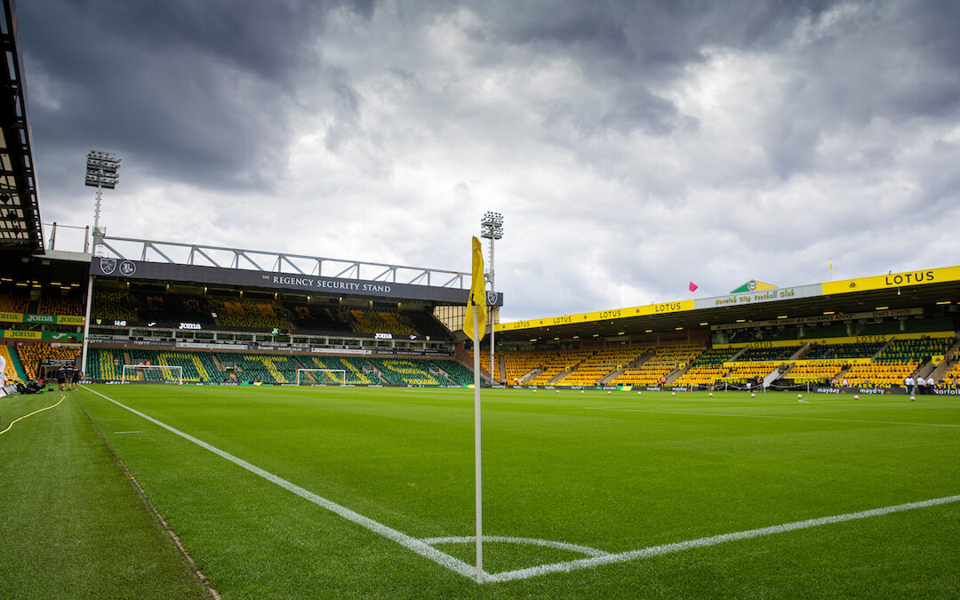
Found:
[{"label": "right-hand stand's roof with yellow LOTUS fascia", "polygon": [[879,315],[938,303],[955,310],[958,300],[960,266],[955,266],[517,321],[498,324],[496,332],[501,342],[607,338],[818,315]]}]

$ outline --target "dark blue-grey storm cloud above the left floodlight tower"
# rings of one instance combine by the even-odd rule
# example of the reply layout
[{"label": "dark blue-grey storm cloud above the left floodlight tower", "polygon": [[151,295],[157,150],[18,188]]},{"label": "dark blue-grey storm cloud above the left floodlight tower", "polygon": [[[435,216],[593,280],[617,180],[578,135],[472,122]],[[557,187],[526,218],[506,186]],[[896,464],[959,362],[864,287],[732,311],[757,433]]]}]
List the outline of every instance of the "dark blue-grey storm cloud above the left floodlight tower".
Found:
[{"label": "dark blue-grey storm cloud above the left floodlight tower", "polygon": [[[18,8],[38,161],[96,147],[154,177],[217,188],[269,185],[285,159],[297,79],[321,60],[310,43],[326,14],[372,14],[370,1]],[[48,175],[56,188],[58,171]]]}]

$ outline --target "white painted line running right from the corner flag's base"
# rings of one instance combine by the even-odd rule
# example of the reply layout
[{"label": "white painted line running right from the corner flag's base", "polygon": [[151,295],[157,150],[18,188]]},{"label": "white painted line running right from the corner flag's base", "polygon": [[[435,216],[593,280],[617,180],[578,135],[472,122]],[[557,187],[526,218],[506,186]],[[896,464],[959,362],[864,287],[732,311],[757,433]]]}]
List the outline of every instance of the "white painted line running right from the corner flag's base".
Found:
[{"label": "white painted line running right from the corner flag's base", "polygon": [[870,518],[872,516],[889,515],[890,513],[900,513],[902,511],[913,511],[916,509],[928,508],[928,507],[937,506],[940,504],[949,504],[951,502],[960,502],[960,495],[951,495],[943,498],[933,498],[931,500],[923,500],[921,502],[910,502],[908,504],[898,504],[897,506],[887,506],[884,508],[873,509],[870,511],[861,511],[859,513],[847,513],[845,515],[822,516],[820,518],[810,518],[803,521],[794,521],[792,523],[783,523],[781,525],[772,525],[770,527],[760,527],[759,529],[749,529],[747,531],[740,531],[732,534],[710,536],[709,538],[700,538],[698,540],[687,540],[687,541],[680,541],[677,543],[664,543],[659,546],[651,546],[649,548],[643,548],[642,550],[631,550],[629,552],[620,552],[618,554],[608,554],[606,556],[598,556],[598,557],[589,558],[589,559],[578,559],[576,561],[566,561],[564,563],[540,564],[538,566],[521,568],[515,571],[504,571],[502,573],[496,573],[490,576],[490,581],[505,582],[505,581],[513,581],[516,579],[529,579],[531,577],[536,577],[538,575],[566,572],[566,571],[572,571],[572,570],[582,569],[582,568],[592,568],[595,566],[600,566],[601,564],[626,563],[628,561],[636,561],[637,559],[645,559],[652,556],[661,556],[663,554],[672,554],[674,552],[681,552],[683,550],[689,550],[691,548],[704,548],[707,546],[715,546],[717,544],[726,543],[728,541],[749,540],[751,538],[773,536],[775,534],[782,534],[788,531],[796,531],[798,529],[809,529],[811,527],[819,527],[821,525],[829,525],[832,523],[842,523],[845,521],[852,521],[860,518]]}]

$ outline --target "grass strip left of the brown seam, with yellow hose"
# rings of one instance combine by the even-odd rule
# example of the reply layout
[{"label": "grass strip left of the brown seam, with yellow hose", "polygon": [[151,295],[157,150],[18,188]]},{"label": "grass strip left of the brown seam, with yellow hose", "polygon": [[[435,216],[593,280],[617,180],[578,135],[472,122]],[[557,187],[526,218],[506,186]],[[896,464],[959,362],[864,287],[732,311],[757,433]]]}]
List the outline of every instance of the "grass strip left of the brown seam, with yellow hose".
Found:
[{"label": "grass strip left of the brown seam, with yellow hose", "polygon": [[71,393],[0,398],[0,597],[204,598]]}]

